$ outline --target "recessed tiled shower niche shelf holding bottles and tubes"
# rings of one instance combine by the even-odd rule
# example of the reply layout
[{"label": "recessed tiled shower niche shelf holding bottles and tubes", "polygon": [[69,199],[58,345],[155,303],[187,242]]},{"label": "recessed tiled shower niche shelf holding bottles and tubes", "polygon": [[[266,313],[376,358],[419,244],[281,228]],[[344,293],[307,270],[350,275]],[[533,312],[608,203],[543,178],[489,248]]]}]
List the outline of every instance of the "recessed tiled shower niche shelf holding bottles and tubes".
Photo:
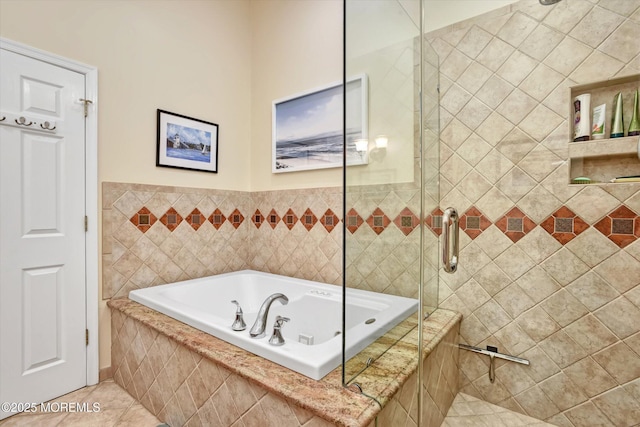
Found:
[{"label": "recessed tiled shower niche shelf holding bottles and tubes", "polygon": [[[612,179],[617,177],[640,175],[640,136],[627,136],[633,115],[633,99],[639,87],[640,74],[571,87],[569,99],[571,106],[569,135],[571,137],[573,137],[574,131],[573,100],[576,96],[591,94],[591,113],[593,113],[595,106],[606,104],[607,107],[604,139],[573,142],[572,138],[569,142],[570,184],[604,184],[610,183]],[[614,109],[613,98],[618,92],[622,93],[625,136],[609,138],[611,116]],[[591,114],[591,118],[593,120],[593,114]],[[587,177],[590,181],[576,181],[576,178],[582,177]],[[640,185],[640,183],[634,184]]]}]

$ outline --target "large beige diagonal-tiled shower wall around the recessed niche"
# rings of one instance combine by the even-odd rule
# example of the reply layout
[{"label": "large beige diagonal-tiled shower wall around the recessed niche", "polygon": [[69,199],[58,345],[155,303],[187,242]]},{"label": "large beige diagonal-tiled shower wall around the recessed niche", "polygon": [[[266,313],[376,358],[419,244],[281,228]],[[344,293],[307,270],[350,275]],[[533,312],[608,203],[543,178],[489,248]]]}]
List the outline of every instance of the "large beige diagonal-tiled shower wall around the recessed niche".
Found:
[{"label": "large beige diagonal-tiled shower wall around the recessed niche", "polygon": [[[640,423],[640,185],[568,185],[568,87],[640,72],[639,0],[523,0],[429,34],[441,63],[441,206],[461,267],[441,307],[461,391],[559,426]],[[626,94],[629,96],[629,94]]]}]

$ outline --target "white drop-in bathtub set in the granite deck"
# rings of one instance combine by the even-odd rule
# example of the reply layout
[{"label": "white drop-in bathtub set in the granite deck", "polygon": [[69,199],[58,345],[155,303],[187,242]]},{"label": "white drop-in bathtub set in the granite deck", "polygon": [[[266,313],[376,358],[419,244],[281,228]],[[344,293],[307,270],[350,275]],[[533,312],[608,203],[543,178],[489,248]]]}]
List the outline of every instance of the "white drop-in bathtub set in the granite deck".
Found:
[{"label": "white drop-in bathtub set in the granite deck", "polygon": [[[249,330],[262,302],[278,292],[289,303],[275,301],[266,336],[251,338]],[[335,285],[243,270],[139,289],[129,298],[315,380],[342,362],[342,288]],[[357,289],[347,289],[346,298],[347,360],[418,308],[416,299]],[[244,331],[231,329],[236,312],[232,300],[244,311]],[[280,347],[269,344],[277,315],[291,319],[282,328],[286,342]],[[313,344],[299,342],[310,336]]]}]

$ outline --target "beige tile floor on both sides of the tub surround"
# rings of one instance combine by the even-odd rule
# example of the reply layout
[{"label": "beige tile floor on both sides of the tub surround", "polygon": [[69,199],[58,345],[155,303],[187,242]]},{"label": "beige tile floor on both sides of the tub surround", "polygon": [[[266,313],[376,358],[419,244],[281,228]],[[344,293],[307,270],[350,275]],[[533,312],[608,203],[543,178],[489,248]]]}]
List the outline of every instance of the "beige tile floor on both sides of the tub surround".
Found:
[{"label": "beige tile floor on both sides of the tub surround", "polygon": [[[0,421],[2,427],[157,427],[162,423],[112,380],[85,387],[52,402],[100,403],[95,413],[25,413]],[[458,393],[442,427],[553,427],[526,415]]]}]

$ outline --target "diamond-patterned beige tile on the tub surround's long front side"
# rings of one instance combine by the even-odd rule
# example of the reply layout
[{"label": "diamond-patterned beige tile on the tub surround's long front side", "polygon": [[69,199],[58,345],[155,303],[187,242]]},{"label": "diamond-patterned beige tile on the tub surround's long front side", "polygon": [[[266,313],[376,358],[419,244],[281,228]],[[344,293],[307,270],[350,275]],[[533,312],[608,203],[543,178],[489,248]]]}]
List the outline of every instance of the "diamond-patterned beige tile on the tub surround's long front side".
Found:
[{"label": "diamond-patterned beige tile on the tub surround's long front side", "polygon": [[114,380],[172,426],[333,424],[112,310]]}]

